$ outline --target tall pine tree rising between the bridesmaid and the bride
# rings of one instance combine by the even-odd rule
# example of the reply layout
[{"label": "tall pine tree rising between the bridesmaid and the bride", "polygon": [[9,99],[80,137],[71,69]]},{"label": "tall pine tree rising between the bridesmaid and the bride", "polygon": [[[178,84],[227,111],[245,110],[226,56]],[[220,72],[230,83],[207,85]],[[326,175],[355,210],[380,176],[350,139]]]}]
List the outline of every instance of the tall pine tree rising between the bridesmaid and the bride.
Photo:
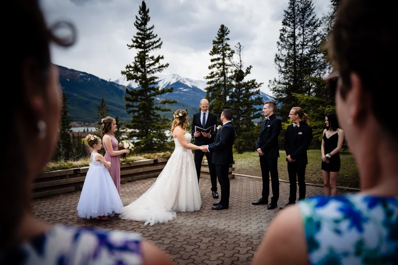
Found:
[{"label": "tall pine tree rising between the bridesmaid and the bride", "polygon": [[159,89],[155,82],[156,73],[161,73],[169,64],[161,64],[163,55],[150,55],[151,52],[162,47],[162,41],[153,33],[154,26],[149,26],[149,9],[145,1],[139,6],[139,16],[136,16],[134,26],[137,34],[132,39],[133,44],[127,45],[135,49],[133,65],[127,65],[126,71],[121,71],[128,81],[135,81],[140,86],[136,89],[126,89],[126,110],[131,114],[131,121],[127,128],[138,132],[131,132],[129,136],[137,136],[137,151],[151,152],[168,149],[166,130],[170,129],[170,119],[159,112],[170,112],[171,109],[162,108],[159,104],[175,104],[176,100],[158,100],[159,96],[173,92],[173,88]]}]

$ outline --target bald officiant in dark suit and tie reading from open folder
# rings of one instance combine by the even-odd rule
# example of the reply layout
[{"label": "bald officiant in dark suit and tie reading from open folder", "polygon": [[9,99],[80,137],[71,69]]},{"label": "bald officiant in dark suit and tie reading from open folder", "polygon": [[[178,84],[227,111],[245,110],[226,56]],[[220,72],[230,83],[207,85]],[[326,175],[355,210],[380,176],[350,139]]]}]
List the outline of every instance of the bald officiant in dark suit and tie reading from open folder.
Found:
[{"label": "bald officiant in dark suit and tie reading from open folder", "polygon": [[[195,132],[195,126],[207,129],[211,126],[217,127],[217,116],[214,113],[209,111],[209,101],[203,98],[199,104],[201,108],[201,112],[193,114],[193,122],[192,122],[192,138],[195,138],[195,145],[209,145],[214,143],[214,138],[217,132],[213,129],[209,133],[205,132]],[[210,171],[210,180],[211,180],[211,192],[213,198],[218,198],[219,194],[217,193],[217,173],[216,169],[212,163],[211,157],[212,153],[206,152],[204,153],[201,150],[193,151],[195,154],[195,167],[196,174],[198,176],[198,182],[200,178],[200,171],[202,167],[203,156],[206,155],[207,163],[209,164]]]}]

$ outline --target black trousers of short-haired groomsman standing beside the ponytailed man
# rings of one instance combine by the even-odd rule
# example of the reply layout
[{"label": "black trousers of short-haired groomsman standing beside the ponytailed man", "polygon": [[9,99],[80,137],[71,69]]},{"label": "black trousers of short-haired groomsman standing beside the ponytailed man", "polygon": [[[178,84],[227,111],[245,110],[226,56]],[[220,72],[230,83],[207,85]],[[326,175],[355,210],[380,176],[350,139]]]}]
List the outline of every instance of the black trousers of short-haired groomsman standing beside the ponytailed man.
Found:
[{"label": "black trousers of short-haired groomsman standing beside the ponytailed man", "polygon": [[278,159],[265,158],[260,155],[261,176],[263,177],[263,199],[268,201],[269,197],[269,174],[271,173],[272,197],[271,203],[277,203],[279,199],[279,176]]}]

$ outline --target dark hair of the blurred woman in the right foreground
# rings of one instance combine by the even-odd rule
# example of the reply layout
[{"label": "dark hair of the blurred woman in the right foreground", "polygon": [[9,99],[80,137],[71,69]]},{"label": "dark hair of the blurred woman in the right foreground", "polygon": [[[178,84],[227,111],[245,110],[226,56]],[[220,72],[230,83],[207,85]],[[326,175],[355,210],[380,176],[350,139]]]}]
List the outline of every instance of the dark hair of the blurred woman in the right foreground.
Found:
[{"label": "dark hair of the blurred woman in the right foreground", "polygon": [[[380,126],[391,135],[395,130],[391,122],[395,98],[385,96],[380,88],[390,87],[390,79],[386,77],[396,74],[391,62],[397,61],[397,23],[395,9],[386,8],[378,1],[344,0],[328,41],[329,56],[342,80],[342,98],[351,89],[350,74],[356,73],[371,101],[370,106],[362,108],[373,112]],[[366,97],[367,93],[361,96]]]}]

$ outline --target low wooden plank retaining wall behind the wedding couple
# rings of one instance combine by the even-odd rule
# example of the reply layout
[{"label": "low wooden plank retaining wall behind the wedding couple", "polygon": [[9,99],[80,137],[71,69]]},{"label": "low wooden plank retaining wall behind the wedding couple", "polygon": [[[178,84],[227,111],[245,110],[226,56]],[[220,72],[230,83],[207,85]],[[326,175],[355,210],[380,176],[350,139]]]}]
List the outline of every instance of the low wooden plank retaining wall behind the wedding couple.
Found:
[{"label": "low wooden plank retaining wall behind the wedding couple", "polygon": [[[158,177],[168,159],[146,159],[120,165],[120,182],[137,181]],[[33,198],[41,198],[82,190],[88,167],[56,170],[40,173],[33,183]],[[234,167],[230,165],[229,178],[234,178]],[[210,178],[209,165],[203,161],[201,177]]]}]

